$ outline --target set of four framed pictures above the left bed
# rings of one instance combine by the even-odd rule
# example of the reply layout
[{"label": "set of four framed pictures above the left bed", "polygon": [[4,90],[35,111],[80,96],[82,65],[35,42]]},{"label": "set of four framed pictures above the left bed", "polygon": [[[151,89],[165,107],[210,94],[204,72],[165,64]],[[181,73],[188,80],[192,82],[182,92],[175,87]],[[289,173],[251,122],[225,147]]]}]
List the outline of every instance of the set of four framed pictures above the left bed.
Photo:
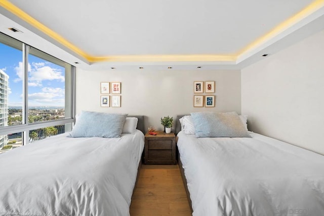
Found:
[{"label": "set of four framed pictures above the left bed", "polygon": [[120,94],[120,82],[100,82],[100,105],[102,107],[121,107]]}]

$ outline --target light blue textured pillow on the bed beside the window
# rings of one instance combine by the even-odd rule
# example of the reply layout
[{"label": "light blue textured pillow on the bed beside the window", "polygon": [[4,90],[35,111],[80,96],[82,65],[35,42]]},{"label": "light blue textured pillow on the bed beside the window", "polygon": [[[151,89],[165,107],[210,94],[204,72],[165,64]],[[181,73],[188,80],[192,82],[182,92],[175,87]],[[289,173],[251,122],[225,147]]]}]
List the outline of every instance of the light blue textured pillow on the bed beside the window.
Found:
[{"label": "light blue textured pillow on the bed beside the window", "polygon": [[128,114],[82,111],[69,137],[118,138]]}]

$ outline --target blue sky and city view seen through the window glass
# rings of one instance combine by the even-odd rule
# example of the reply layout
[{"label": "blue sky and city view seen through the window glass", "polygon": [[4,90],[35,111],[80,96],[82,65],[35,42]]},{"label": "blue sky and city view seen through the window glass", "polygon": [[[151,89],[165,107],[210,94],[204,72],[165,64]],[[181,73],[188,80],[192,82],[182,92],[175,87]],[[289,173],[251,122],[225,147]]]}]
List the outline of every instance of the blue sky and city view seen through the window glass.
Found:
[{"label": "blue sky and city view seen through the window glass", "polygon": [[[23,120],[25,78],[22,47],[19,41],[14,45],[0,42],[0,128],[27,123]],[[65,67],[48,61],[46,53],[45,58],[38,53],[42,52],[28,53],[28,124],[65,118]],[[64,127],[61,124],[29,130],[28,143],[64,133]],[[22,132],[0,135],[0,153],[21,145]]]}]

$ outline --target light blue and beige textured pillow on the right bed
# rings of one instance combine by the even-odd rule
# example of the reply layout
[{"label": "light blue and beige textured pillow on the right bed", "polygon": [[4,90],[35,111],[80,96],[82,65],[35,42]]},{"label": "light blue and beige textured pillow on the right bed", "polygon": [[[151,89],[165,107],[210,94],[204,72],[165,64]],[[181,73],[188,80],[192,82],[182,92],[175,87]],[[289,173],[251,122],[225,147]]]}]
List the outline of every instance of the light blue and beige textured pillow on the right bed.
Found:
[{"label": "light blue and beige textured pillow on the right bed", "polygon": [[197,138],[251,137],[237,113],[191,113]]}]

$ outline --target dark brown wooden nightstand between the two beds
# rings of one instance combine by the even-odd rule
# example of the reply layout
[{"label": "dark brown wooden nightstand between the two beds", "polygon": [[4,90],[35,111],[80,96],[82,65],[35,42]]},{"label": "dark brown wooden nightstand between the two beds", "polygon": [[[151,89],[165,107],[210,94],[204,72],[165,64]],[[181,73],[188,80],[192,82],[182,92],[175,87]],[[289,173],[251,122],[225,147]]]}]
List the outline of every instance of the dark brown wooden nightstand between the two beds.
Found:
[{"label": "dark brown wooden nightstand between the two beds", "polygon": [[176,136],[174,133],[155,131],[145,134],[144,164],[176,164]]}]

